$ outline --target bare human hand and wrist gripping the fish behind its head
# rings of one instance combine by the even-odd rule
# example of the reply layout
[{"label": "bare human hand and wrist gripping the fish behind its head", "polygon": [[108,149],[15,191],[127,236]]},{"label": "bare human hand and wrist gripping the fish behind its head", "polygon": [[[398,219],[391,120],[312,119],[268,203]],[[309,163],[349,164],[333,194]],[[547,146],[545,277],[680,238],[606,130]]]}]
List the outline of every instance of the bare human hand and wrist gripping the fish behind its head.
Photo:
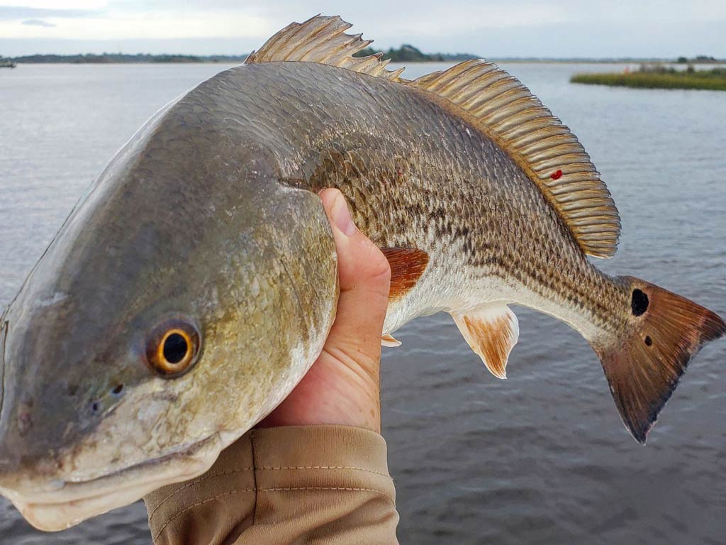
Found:
[{"label": "bare human hand and wrist gripping the fish behind its head", "polygon": [[338,252],[340,299],[322,353],[259,427],[343,424],[380,433],[380,336],[391,267],[353,224],[340,191],[320,193]]}]

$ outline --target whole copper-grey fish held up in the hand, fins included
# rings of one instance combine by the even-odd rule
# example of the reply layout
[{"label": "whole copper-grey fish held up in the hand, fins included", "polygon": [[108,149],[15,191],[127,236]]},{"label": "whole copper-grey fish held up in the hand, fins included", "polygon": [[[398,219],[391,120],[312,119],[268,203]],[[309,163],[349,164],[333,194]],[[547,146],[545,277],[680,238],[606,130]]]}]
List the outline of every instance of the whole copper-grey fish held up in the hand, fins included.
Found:
[{"label": "whole copper-grey fish held up in the hand, fins included", "polygon": [[610,277],[620,222],[574,135],[484,61],[408,81],[338,17],[273,36],[118,153],[0,321],[0,491],[57,530],[204,472],[282,400],[335,317],[322,187],[391,263],[383,343],[451,313],[504,378],[507,304],[592,345],[645,441],[709,310]]}]

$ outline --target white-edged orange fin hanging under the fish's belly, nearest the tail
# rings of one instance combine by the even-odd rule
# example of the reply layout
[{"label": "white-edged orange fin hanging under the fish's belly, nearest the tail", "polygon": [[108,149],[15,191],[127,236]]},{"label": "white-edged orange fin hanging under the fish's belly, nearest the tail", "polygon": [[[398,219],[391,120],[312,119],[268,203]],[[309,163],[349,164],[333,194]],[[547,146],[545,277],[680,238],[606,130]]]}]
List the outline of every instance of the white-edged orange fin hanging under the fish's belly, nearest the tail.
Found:
[{"label": "white-edged orange fin hanging under the fish's belly, nearest the tail", "polygon": [[506,379],[507,358],[519,339],[519,322],[506,304],[452,312],[459,331],[491,373]]}]

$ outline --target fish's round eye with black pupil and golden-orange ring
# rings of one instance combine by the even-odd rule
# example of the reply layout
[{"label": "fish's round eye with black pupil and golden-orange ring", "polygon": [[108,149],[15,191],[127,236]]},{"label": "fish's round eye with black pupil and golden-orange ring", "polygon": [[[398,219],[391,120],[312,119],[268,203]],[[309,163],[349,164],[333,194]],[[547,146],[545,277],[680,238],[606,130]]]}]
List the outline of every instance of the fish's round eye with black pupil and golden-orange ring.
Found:
[{"label": "fish's round eye with black pupil and golden-orange ring", "polygon": [[168,320],[152,331],[146,347],[149,366],[165,378],[184,374],[199,356],[201,336],[185,320]]}]

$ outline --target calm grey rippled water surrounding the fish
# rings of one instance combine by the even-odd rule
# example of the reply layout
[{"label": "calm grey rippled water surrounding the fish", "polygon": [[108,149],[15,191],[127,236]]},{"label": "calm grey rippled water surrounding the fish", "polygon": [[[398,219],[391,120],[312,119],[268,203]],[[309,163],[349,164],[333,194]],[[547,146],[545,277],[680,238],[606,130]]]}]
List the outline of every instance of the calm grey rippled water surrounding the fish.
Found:
[{"label": "calm grey rippled water surrounding the fish", "polygon": [[[115,150],[221,65],[0,71],[0,307]],[[441,68],[414,65],[409,77]],[[726,93],[568,84],[622,65],[506,65],[574,129],[623,219],[610,273],[726,315]],[[706,347],[647,447],[627,434],[587,343],[515,309],[494,379],[448,315],[409,324],[383,365],[384,435],[407,544],[723,544],[726,342]],[[142,504],[60,534],[0,498],[0,543],[149,544]]]}]

